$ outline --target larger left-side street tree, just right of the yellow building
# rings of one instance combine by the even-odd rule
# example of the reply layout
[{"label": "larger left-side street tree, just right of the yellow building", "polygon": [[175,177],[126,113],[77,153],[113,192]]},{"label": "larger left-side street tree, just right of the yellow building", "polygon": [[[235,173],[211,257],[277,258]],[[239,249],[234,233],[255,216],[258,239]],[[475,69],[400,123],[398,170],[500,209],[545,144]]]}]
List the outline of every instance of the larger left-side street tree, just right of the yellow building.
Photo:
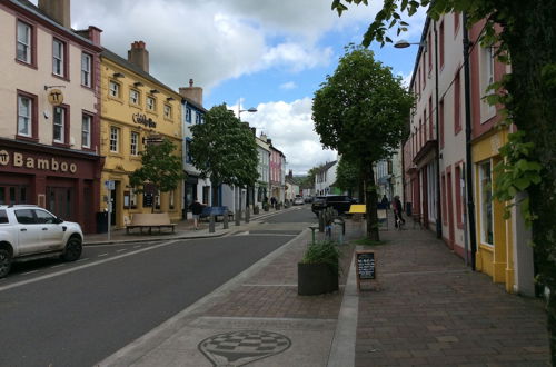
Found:
[{"label": "larger left-side street tree, just right of the yellow building", "polygon": [[218,202],[218,187],[222,184],[255,186],[259,177],[255,135],[226,105],[212,107],[205,122],[191,127],[191,162],[202,178],[210,178],[214,204]]}]

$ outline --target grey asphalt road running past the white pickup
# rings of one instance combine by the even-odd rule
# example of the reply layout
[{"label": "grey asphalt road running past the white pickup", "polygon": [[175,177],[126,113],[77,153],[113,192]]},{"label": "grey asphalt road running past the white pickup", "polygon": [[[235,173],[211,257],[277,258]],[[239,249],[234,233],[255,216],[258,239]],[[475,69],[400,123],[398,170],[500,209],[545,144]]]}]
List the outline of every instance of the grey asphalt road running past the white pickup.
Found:
[{"label": "grey asphalt road running past the white pickup", "polygon": [[0,365],[92,365],[287,242],[285,226],[302,227],[284,222],[306,220],[296,210],[261,234],[87,247],[80,262],[19,267],[0,281]]}]

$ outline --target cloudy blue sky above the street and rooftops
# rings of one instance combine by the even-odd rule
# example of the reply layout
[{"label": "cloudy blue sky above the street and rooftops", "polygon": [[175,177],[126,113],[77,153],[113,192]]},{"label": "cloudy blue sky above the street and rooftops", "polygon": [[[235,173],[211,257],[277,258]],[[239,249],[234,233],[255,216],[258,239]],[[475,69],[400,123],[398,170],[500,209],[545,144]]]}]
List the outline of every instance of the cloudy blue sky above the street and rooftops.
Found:
[{"label": "cloudy blue sky above the street and rooftops", "polygon": [[[37,1],[33,1],[37,3]],[[71,26],[102,29],[102,46],[127,58],[133,41],[146,42],[150,73],[175,88],[193,79],[203,106],[227,103],[241,120],[265,132],[286,156],[294,175],[337,159],[314,131],[316,90],[334,73],[345,46],[360,43],[381,1],[350,6],[341,17],[331,0],[73,0]],[[420,11],[396,41],[418,42]],[[370,47],[376,59],[407,82],[417,47]]]}]

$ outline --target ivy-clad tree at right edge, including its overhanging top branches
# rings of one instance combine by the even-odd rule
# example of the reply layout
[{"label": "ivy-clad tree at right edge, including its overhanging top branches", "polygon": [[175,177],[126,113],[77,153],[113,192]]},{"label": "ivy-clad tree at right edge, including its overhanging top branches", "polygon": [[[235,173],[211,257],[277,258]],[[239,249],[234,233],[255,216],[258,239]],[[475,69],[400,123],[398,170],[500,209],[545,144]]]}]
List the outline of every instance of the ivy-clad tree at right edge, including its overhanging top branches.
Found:
[{"label": "ivy-clad tree at right edge, including its overhanging top branches", "polygon": [[[332,0],[332,9],[341,14],[349,3],[368,0]],[[498,59],[512,63],[510,73],[492,86],[489,97],[490,103],[505,107],[503,126],[518,129],[500,149],[495,197],[508,201],[526,194],[520,207],[532,226],[537,281],[549,290],[548,331],[556,365],[556,1],[386,0],[363,44],[391,42],[388,31],[406,31],[403,16],[419,7],[428,7],[435,20],[448,12],[463,12],[469,26],[484,20],[480,42],[496,46]]]}]

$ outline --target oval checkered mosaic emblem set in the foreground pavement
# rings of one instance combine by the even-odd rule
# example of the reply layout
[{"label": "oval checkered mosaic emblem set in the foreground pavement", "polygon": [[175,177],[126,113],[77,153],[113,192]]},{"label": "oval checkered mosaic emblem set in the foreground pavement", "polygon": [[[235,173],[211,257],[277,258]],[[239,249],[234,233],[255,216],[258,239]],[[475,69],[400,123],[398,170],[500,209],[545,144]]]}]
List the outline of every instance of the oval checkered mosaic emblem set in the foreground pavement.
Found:
[{"label": "oval checkered mosaic emblem set in the foreground pavement", "polygon": [[291,340],[278,333],[241,330],[214,335],[199,343],[199,350],[214,366],[245,366],[282,353]]}]

